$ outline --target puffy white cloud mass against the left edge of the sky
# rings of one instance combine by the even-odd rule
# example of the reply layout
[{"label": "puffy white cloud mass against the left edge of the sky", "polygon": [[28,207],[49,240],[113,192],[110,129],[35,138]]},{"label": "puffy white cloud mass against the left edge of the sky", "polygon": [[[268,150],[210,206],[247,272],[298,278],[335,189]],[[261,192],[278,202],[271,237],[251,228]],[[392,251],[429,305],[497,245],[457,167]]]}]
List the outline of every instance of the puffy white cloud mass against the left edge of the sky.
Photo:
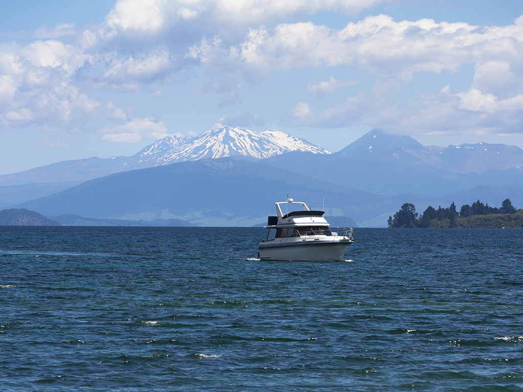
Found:
[{"label": "puffy white cloud mass against the left edge of the sky", "polygon": [[89,99],[72,80],[87,58],[60,41],[36,41],[26,47],[0,44],[0,124],[69,127],[99,102]]}]

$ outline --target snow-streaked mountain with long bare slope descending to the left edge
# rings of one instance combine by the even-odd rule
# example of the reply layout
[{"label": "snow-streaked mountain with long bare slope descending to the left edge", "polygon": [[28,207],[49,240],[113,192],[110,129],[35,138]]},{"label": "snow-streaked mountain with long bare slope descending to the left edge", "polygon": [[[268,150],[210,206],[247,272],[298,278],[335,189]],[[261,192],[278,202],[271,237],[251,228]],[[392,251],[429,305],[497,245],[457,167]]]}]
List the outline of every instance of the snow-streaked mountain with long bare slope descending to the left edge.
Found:
[{"label": "snow-streaked mountain with long bare slope descending to the left edge", "polygon": [[94,178],[204,158],[236,156],[257,160],[290,151],[331,154],[300,137],[267,130],[253,132],[225,126],[196,137],[168,136],[130,157],[66,160],[0,176],[0,207],[47,196]]}]

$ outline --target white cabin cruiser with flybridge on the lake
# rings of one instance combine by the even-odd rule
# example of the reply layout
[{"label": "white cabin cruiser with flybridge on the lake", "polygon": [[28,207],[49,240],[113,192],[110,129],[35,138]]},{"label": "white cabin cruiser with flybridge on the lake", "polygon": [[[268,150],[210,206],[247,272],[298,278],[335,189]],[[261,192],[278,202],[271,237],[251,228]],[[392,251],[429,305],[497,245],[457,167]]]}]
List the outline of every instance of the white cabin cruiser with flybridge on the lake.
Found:
[{"label": "white cabin cruiser with flybridge on the lake", "polygon": [[[286,211],[294,210],[285,215]],[[295,210],[301,205],[302,210]],[[353,229],[332,232],[324,211],[311,211],[302,202],[287,199],[276,203],[276,215],[267,218],[267,239],[258,245],[260,260],[320,261],[342,260],[354,242]]]}]

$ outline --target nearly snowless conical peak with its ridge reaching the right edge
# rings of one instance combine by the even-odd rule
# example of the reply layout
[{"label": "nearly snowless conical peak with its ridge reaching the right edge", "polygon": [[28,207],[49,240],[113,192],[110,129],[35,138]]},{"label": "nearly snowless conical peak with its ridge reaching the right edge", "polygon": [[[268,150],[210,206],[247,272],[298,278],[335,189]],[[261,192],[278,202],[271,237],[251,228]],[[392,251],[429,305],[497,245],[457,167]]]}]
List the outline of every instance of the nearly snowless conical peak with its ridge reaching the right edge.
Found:
[{"label": "nearly snowless conical peak with its ridge reaching the right edge", "polygon": [[424,147],[410,136],[372,130],[331,155],[290,152],[260,161],[369,192],[436,196],[477,185],[523,185],[523,150],[504,144]]}]

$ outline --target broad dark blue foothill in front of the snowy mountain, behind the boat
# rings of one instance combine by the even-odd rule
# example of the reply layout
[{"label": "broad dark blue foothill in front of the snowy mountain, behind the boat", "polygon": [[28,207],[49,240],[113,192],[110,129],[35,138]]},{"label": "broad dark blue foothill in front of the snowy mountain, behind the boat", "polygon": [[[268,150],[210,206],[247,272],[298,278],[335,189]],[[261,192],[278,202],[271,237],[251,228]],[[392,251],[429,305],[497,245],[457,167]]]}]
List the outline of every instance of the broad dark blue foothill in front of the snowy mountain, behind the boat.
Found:
[{"label": "broad dark blue foothill in front of the snowy mountain, behind the boat", "polygon": [[506,198],[516,207],[523,206],[523,187],[482,186],[440,197],[385,196],[229,157],[112,174],[19,207],[55,219],[76,214],[105,220],[175,219],[204,226],[252,226],[266,222],[267,215],[275,213],[274,203],[285,200],[287,192],[313,209],[324,209],[327,220],[346,216],[363,227],[386,226],[389,215],[405,202],[415,204],[418,212],[429,204],[437,208],[452,201],[459,209],[476,197],[492,206]]}]

